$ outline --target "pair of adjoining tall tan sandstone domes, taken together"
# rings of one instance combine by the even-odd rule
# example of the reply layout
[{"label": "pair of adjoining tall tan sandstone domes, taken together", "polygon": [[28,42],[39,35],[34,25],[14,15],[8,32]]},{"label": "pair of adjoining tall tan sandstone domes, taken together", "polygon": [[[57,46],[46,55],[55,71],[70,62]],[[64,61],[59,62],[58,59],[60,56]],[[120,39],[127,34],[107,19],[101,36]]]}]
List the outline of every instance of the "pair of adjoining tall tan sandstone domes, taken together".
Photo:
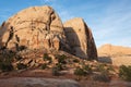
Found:
[{"label": "pair of adjoining tall tan sandstone domes, taken together", "polygon": [[[64,25],[64,28],[63,28]],[[48,5],[25,9],[0,27],[0,47],[63,50],[83,59],[97,59],[91,29],[82,18],[62,24]]]}]

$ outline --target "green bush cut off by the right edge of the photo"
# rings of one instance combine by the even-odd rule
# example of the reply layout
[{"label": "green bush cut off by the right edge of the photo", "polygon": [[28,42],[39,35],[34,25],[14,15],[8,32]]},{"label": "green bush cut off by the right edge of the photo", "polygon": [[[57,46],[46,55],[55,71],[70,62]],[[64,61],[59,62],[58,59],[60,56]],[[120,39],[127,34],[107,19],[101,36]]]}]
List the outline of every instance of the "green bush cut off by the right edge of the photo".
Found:
[{"label": "green bush cut off by the right edge of the photo", "polygon": [[121,65],[119,67],[119,76],[124,80],[131,82],[131,65]]}]

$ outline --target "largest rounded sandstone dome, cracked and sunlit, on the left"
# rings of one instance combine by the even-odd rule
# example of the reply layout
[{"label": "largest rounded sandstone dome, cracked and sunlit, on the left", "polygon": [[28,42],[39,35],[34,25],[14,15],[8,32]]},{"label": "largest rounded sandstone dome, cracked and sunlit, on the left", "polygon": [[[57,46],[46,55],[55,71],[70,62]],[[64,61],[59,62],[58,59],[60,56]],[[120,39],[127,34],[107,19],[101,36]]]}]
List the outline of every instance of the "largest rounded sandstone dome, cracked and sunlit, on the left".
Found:
[{"label": "largest rounded sandstone dome, cracked and sunlit, on the left", "polygon": [[59,50],[64,40],[61,20],[47,5],[25,9],[10,17],[0,28],[0,46],[9,49],[27,47]]}]

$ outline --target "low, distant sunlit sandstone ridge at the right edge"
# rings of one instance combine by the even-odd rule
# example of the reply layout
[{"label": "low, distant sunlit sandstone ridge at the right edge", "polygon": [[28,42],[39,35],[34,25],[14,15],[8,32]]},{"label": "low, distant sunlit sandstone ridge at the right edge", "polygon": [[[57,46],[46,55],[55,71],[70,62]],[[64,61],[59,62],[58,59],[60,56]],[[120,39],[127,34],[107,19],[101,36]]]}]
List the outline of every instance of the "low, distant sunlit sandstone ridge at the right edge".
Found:
[{"label": "low, distant sunlit sandstone ridge at the right edge", "polygon": [[114,65],[131,65],[131,48],[104,45],[98,48],[99,61],[109,62]]}]

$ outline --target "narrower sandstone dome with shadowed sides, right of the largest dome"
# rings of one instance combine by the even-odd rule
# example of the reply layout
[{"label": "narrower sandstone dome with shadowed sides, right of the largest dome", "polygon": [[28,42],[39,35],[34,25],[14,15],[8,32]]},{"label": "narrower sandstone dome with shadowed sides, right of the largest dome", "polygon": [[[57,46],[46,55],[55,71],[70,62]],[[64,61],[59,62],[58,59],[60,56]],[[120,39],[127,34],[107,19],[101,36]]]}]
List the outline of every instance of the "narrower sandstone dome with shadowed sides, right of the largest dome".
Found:
[{"label": "narrower sandstone dome with shadowed sides, right of the largest dome", "polygon": [[85,22],[76,17],[66,22],[63,25],[72,53],[83,59],[97,59],[95,41]]}]

